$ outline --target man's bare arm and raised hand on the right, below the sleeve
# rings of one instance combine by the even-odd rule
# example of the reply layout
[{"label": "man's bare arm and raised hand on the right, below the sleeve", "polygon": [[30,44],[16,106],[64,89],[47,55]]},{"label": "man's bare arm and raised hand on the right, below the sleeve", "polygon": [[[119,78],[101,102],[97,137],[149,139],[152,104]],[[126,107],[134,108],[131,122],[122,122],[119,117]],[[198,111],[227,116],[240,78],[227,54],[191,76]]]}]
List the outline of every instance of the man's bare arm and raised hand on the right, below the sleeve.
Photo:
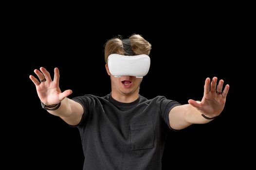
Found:
[{"label": "man's bare arm and raised hand on the right, below the sleeve", "polygon": [[205,119],[202,114],[208,118],[219,116],[224,109],[229,90],[229,85],[225,85],[223,92],[221,92],[223,84],[224,81],[220,80],[217,86],[217,77],[213,78],[211,84],[210,79],[206,78],[201,102],[190,99],[188,100],[189,104],[174,107],[169,113],[170,126],[179,130],[191,124],[208,123],[212,120]]}]

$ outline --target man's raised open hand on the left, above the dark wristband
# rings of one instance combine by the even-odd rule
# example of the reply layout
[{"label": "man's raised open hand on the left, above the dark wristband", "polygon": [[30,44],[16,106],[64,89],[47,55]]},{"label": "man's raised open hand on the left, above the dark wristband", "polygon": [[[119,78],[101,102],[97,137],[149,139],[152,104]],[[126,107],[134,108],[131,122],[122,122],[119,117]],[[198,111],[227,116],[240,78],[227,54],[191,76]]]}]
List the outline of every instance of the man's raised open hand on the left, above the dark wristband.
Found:
[{"label": "man's raised open hand on the left, above the dark wristband", "polygon": [[37,74],[37,78],[30,75],[29,78],[36,85],[37,95],[41,102],[47,105],[60,103],[67,96],[72,94],[72,90],[65,90],[61,93],[59,88],[59,70],[54,69],[54,81],[52,81],[50,73],[43,67],[35,69],[34,72]]}]

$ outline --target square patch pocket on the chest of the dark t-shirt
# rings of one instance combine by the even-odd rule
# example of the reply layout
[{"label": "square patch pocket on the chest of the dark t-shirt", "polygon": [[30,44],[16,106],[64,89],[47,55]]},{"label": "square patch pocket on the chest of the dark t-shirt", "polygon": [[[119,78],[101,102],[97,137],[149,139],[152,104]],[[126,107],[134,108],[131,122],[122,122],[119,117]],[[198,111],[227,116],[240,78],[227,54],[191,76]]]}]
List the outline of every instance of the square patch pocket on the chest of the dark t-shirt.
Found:
[{"label": "square patch pocket on the chest of the dark t-shirt", "polygon": [[131,124],[131,150],[154,148],[153,123]]}]

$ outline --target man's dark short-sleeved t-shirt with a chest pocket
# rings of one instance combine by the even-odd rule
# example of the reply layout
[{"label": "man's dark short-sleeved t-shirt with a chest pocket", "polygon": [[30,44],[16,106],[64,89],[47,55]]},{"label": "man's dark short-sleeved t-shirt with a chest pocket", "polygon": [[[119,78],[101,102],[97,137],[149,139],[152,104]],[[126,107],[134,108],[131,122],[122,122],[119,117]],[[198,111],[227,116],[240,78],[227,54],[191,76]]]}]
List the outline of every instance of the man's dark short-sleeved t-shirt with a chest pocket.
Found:
[{"label": "man's dark short-sleeved t-shirt with a chest pocket", "polygon": [[130,103],[111,95],[73,98],[84,107],[79,129],[85,156],[83,170],[161,170],[168,114],[180,103],[163,96]]}]

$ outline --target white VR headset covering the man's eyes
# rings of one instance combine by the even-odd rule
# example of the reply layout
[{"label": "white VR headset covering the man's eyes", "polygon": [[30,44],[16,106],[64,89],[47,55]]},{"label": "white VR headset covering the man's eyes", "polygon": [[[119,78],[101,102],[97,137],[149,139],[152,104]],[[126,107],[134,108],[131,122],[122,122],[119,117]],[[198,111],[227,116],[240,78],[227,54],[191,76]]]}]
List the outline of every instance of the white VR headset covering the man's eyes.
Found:
[{"label": "white VR headset covering the man's eyes", "polygon": [[143,78],[150,67],[150,58],[146,54],[141,55],[120,55],[110,54],[108,67],[114,77],[135,76]]}]

